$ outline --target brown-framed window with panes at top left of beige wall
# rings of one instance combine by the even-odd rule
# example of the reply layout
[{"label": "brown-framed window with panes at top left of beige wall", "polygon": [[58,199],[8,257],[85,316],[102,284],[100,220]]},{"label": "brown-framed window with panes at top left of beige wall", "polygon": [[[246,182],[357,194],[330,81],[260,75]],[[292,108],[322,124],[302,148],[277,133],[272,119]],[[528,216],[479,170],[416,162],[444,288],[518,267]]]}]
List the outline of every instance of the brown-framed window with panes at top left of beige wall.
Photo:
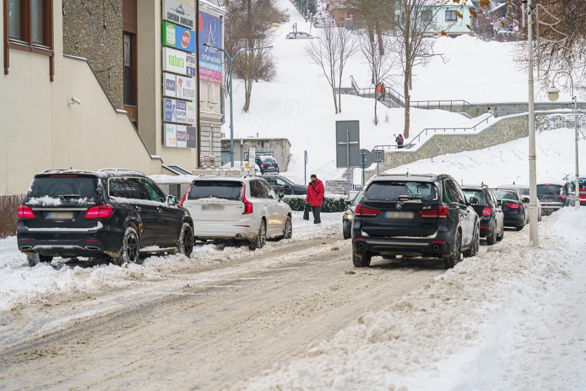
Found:
[{"label": "brown-framed window with panes at top left of beige wall", "polygon": [[53,0],[5,0],[4,74],[8,75],[9,49],[50,56],[49,76],[53,81]]}]

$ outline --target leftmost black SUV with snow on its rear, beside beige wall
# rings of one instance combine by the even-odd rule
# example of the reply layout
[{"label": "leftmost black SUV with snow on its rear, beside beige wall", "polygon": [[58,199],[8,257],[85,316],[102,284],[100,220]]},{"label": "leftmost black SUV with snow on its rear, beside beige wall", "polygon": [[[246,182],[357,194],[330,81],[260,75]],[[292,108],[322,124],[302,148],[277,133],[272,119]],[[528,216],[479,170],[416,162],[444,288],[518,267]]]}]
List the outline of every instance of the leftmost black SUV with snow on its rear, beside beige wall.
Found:
[{"label": "leftmost black SUV with snow on its rear, beside beige wall", "polygon": [[193,222],[142,172],[47,170],[34,176],[19,207],[17,240],[30,266],[54,256],[122,265],[139,262],[140,252],[189,256]]}]

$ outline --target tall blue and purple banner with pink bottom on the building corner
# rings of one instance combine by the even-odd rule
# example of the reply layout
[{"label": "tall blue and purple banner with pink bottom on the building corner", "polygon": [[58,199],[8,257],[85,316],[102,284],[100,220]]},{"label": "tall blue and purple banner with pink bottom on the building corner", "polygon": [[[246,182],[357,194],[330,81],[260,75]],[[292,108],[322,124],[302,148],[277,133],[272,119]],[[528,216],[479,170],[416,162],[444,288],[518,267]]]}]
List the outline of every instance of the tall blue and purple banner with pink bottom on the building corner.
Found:
[{"label": "tall blue and purple banner with pink bottom on the building corner", "polygon": [[221,20],[199,12],[199,80],[221,84],[221,52],[211,47],[222,47]]}]

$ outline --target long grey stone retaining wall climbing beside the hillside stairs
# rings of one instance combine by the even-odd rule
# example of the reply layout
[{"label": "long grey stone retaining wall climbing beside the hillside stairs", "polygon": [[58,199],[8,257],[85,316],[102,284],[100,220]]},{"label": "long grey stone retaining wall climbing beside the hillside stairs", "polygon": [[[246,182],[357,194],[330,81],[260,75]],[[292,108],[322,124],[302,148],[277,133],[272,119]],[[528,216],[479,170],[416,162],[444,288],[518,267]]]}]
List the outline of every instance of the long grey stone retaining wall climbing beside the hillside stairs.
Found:
[{"label": "long grey stone retaining wall climbing beside the hillside stairs", "polygon": [[[539,126],[541,118],[545,117],[545,115],[547,114],[536,113],[537,126]],[[536,129],[539,129],[537,126]],[[417,150],[385,153],[384,163],[379,165],[379,172],[409,164],[420,159],[430,159],[431,157],[446,153],[459,153],[465,150],[488,148],[489,146],[503,144],[521,137],[528,137],[528,129],[528,115],[525,114],[500,118],[483,131],[470,135],[434,134]],[[374,175],[374,170],[367,170],[365,172],[366,179],[370,179]]]}]

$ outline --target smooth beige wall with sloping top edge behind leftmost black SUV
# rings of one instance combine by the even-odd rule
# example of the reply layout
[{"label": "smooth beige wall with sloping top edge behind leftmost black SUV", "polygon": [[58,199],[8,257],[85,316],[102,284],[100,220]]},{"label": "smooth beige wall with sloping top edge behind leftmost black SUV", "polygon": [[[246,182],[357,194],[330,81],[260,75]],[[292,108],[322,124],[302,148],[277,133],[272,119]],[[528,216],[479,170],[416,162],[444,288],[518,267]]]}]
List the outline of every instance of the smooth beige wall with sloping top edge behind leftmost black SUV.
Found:
[{"label": "smooth beige wall with sloping top edge behind leftmost black SUV", "polygon": [[[0,76],[0,194],[25,192],[33,175],[49,168],[160,173],[161,160],[151,159],[128,116],[112,107],[89,65],[61,55],[61,1],[54,1],[53,17],[54,82],[47,56],[17,50],[10,50],[10,73]],[[0,62],[2,57],[0,53]],[[67,104],[71,96],[82,104]]]}]

